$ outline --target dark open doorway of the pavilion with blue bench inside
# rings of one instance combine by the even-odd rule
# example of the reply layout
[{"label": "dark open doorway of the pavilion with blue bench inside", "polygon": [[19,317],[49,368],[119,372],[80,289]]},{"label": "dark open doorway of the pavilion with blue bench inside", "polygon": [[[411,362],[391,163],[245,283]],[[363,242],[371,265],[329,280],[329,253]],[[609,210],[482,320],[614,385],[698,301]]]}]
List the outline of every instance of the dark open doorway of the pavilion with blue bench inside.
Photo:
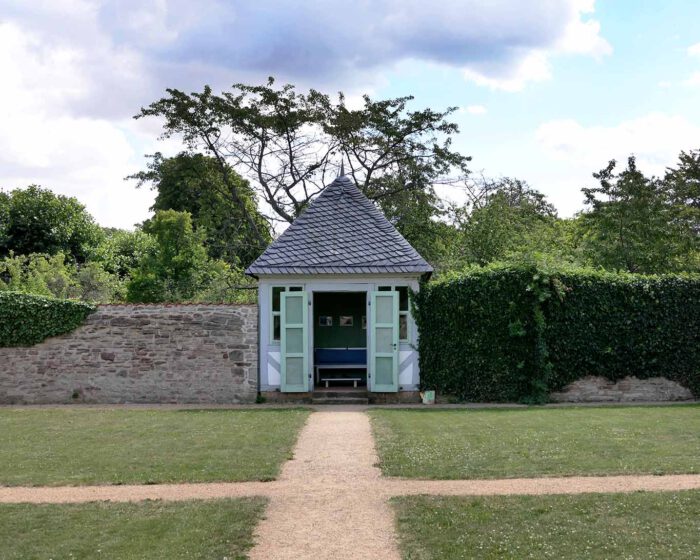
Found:
[{"label": "dark open doorway of the pavilion with blue bench inside", "polygon": [[366,391],[367,292],[313,293],[316,390]]}]

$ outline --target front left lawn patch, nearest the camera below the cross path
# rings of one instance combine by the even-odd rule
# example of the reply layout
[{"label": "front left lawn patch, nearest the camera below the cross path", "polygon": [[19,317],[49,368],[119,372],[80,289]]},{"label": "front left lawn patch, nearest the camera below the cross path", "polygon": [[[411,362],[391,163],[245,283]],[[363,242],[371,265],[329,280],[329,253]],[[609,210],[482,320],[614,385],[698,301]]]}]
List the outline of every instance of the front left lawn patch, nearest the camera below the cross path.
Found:
[{"label": "front left lawn patch, nearest the camera below the cross path", "polygon": [[246,558],[265,500],[0,505],[4,560]]}]

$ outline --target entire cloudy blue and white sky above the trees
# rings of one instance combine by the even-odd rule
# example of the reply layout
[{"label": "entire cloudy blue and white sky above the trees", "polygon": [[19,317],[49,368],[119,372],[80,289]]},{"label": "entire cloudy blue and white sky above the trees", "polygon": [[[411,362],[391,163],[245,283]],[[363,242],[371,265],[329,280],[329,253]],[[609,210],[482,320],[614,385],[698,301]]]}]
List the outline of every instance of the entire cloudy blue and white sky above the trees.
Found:
[{"label": "entire cloudy blue and white sky above the trees", "polygon": [[697,21],[696,0],[0,0],[0,188],[40,184],[133,227],[154,193],[125,177],[182,148],[139,109],[272,75],[457,106],[475,173],[570,216],[610,159],[661,174],[700,148]]}]

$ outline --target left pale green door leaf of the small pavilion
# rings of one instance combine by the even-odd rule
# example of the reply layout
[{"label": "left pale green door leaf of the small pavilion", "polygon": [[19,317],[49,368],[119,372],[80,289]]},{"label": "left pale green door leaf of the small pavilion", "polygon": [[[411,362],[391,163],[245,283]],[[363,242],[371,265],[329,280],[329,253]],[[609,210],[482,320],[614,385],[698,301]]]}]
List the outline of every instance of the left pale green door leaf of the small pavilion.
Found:
[{"label": "left pale green door leaf of the small pavilion", "polygon": [[281,390],[303,393],[309,390],[308,295],[284,292],[281,296]]}]

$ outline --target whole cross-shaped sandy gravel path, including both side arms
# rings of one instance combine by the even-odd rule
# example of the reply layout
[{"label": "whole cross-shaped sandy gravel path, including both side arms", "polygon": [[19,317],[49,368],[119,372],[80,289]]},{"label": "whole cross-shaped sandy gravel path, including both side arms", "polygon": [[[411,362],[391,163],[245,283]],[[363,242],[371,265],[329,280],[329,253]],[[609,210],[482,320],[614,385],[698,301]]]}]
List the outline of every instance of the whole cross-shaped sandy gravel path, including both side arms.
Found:
[{"label": "whole cross-shaped sandy gravel path, including both side arms", "polygon": [[[361,410],[315,412],[294,459],[274,482],[146,486],[0,487],[0,503],[191,500],[266,496],[251,558],[398,560],[392,496],[432,494],[581,494],[700,489],[700,475],[603,476],[503,480],[382,478],[368,416]],[[361,555],[358,546],[362,547]]]}]

